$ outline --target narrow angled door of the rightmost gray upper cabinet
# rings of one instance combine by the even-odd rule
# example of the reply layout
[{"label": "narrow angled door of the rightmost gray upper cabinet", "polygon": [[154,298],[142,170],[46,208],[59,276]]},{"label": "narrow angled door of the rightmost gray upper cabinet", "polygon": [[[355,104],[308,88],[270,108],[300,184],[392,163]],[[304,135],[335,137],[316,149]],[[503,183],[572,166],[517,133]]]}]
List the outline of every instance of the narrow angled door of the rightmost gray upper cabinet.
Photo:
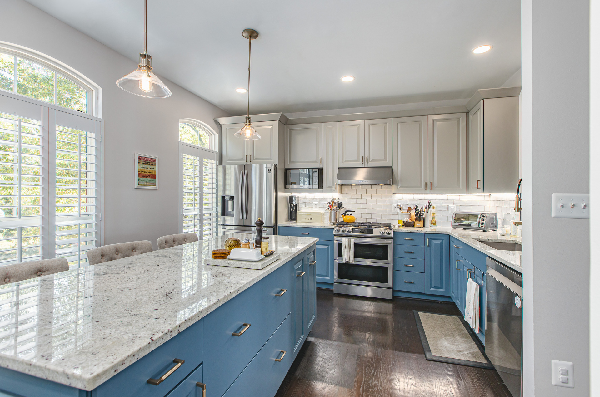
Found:
[{"label": "narrow angled door of the rightmost gray upper cabinet", "polygon": [[[493,155],[493,154],[490,154]],[[469,112],[469,192],[484,191],[484,101]]]}]

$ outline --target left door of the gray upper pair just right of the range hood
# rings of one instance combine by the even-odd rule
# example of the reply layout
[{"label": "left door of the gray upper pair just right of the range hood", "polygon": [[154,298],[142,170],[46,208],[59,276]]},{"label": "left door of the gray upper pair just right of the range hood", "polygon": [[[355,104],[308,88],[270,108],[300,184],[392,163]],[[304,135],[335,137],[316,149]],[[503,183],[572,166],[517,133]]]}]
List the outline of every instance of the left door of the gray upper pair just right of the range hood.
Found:
[{"label": "left door of the gray upper pair just right of the range hood", "polygon": [[397,118],[392,125],[394,193],[427,193],[427,116]]}]

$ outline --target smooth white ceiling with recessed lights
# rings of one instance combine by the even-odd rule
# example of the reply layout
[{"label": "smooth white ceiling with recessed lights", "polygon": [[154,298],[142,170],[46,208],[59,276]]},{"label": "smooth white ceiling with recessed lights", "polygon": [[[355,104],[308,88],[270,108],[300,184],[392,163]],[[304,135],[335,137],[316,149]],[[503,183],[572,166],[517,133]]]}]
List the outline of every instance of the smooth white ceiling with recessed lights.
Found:
[{"label": "smooth white ceiling with recessed lights", "polygon": [[[136,62],[143,50],[143,0],[26,1]],[[241,32],[256,29],[250,112],[305,112],[498,87],[521,67],[520,24],[520,0],[148,0],[148,52],[160,76],[245,114]]]}]

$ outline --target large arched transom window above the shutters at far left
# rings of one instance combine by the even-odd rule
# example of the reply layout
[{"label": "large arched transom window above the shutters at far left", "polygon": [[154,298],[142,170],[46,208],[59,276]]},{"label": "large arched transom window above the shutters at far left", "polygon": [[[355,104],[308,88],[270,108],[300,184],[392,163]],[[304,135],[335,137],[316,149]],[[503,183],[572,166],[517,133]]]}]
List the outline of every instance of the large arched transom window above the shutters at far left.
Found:
[{"label": "large arched transom window above the shutters at far left", "polygon": [[98,116],[98,89],[61,62],[0,43],[0,89]]}]

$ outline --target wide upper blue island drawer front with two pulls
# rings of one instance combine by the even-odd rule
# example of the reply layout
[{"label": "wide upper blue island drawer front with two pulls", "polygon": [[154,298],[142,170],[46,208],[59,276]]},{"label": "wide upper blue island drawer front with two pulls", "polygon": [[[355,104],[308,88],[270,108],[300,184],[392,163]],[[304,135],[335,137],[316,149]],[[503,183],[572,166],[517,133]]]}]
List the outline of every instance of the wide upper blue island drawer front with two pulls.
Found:
[{"label": "wide upper blue island drawer front with two pulls", "polygon": [[[292,309],[291,264],[285,264],[204,318],[207,395],[221,397]],[[287,291],[281,295],[282,289]],[[233,335],[241,332],[240,336]]]}]

